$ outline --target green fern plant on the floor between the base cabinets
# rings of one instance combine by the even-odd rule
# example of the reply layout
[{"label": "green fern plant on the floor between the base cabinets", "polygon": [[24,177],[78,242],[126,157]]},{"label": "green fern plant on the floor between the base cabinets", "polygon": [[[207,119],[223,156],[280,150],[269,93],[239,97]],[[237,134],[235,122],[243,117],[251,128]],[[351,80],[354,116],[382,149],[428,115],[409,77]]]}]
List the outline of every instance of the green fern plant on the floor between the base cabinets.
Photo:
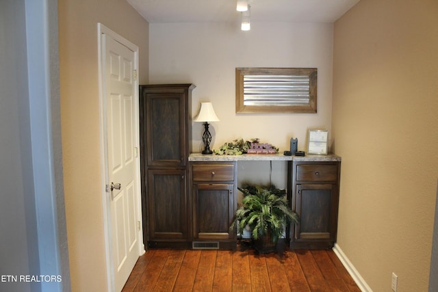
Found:
[{"label": "green fern plant on the floor between the base cabinets", "polygon": [[298,214],[287,206],[284,189],[258,185],[245,185],[238,189],[242,191],[244,198],[242,206],[235,213],[231,229],[238,224],[240,230],[243,230],[248,225],[253,239],[270,233],[272,241],[276,243],[288,224],[300,221]]}]

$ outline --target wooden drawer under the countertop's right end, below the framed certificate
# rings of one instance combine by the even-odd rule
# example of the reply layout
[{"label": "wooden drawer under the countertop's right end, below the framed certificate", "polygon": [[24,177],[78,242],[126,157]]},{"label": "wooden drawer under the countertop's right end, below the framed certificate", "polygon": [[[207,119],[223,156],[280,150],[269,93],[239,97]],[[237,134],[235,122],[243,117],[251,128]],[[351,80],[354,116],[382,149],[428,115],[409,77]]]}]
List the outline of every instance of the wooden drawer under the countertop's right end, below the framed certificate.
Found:
[{"label": "wooden drawer under the countertop's right end, below the framed certificate", "polygon": [[337,164],[296,165],[296,181],[337,181]]}]

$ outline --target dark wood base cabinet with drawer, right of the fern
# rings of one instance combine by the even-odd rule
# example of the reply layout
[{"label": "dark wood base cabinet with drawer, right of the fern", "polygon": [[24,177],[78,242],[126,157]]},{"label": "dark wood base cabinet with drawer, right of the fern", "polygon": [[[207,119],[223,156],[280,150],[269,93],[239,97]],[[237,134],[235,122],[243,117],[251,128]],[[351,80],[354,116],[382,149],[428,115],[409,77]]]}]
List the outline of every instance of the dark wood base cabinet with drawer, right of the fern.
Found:
[{"label": "dark wood base cabinet with drawer, right of the fern", "polygon": [[292,210],[300,216],[300,223],[290,228],[290,248],[333,248],[341,163],[294,161],[291,166]]}]

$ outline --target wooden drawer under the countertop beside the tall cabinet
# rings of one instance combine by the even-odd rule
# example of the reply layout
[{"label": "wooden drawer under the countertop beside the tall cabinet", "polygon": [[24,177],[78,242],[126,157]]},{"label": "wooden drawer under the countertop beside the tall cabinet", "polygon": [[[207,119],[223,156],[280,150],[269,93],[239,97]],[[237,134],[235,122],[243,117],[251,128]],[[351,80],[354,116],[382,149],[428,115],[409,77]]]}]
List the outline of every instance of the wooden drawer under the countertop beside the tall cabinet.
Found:
[{"label": "wooden drawer under the countertop beside the tall cabinet", "polygon": [[234,181],[233,164],[194,164],[193,181]]}]

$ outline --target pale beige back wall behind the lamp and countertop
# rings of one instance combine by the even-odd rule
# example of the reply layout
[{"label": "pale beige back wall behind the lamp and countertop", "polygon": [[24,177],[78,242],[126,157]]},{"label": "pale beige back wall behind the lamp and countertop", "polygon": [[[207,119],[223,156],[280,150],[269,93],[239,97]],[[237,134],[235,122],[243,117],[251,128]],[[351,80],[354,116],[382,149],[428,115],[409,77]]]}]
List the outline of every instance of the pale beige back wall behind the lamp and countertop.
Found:
[{"label": "pale beige back wall behind the lamp and countertop", "polygon": [[[192,114],[211,101],[212,148],[259,138],[289,150],[291,137],[306,150],[307,129],[331,129],[333,24],[151,23],[150,83],[194,83]],[[318,114],[235,114],[236,67],[318,68]],[[201,152],[202,123],[194,122],[193,152]],[[270,163],[239,163],[239,181],[269,183]],[[272,163],[272,183],[286,187],[285,163]]]}]

